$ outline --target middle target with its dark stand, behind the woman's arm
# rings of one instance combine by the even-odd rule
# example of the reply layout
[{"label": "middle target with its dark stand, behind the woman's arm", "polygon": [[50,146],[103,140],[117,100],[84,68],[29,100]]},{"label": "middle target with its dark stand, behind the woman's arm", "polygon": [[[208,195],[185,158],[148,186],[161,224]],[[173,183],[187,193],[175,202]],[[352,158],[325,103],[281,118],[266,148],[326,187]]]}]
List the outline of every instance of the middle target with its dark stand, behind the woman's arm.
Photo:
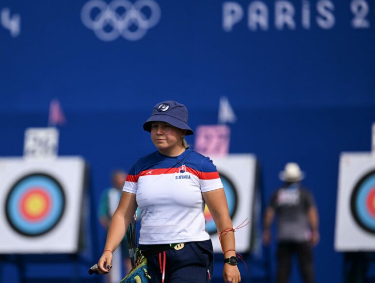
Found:
[{"label": "middle target with its dark stand, behind the woman's arm", "polygon": [[[244,226],[235,232],[236,252],[246,262],[239,261],[238,268],[243,282],[271,282],[270,251],[261,244],[261,208],[264,200],[259,182],[259,167],[252,154],[229,154],[210,156],[219,172],[226,194],[229,216],[233,226]],[[215,269],[222,270],[223,251],[217,235],[215,223],[206,206],[204,211],[206,227],[215,253]],[[250,222],[248,225],[245,225]],[[242,225],[241,225],[242,223]],[[211,283],[223,282],[220,272],[215,272]]]}]

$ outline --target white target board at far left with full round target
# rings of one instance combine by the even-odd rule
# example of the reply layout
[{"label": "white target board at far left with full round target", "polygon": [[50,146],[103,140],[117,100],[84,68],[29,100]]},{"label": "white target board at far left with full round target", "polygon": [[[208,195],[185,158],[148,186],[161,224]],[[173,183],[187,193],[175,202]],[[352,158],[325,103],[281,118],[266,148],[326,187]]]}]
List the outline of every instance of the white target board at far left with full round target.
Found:
[{"label": "white target board at far left with full round target", "polygon": [[0,158],[0,254],[75,253],[84,161]]}]

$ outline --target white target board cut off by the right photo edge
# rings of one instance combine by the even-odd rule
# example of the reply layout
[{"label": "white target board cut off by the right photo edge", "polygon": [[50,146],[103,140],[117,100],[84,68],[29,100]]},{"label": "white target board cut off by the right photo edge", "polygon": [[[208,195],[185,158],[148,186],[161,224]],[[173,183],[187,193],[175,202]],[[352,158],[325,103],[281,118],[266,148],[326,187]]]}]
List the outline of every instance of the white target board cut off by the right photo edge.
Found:
[{"label": "white target board cut off by the right photo edge", "polygon": [[375,250],[374,154],[340,155],[334,248]]}]

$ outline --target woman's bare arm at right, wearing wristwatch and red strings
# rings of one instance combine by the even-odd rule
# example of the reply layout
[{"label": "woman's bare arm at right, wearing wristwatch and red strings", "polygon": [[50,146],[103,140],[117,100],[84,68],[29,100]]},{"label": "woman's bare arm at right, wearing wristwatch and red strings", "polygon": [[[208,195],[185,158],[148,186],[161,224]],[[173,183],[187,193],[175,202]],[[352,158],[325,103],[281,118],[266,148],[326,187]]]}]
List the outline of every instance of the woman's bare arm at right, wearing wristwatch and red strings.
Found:
[{"label": "woman's bare arm at right, wearing wristwatch and red strings", "polygon": [[[223,249],[224,258],[235,256],[236,243],[233,230],[220,233],[222,231],[232,229],[233,227],[232,221],[229,217],[228,203],[224,189],[221,188],[209,192],[204,192],[202,193],[202,195],[203,199],[207,203],[213,221],[216,224],[216,228],[221,240],[221,247]],[[241,281],[241,275],[237,265],[230,265],[229,263],[224,264],[223,277],[225,283],[237,283]]]}]

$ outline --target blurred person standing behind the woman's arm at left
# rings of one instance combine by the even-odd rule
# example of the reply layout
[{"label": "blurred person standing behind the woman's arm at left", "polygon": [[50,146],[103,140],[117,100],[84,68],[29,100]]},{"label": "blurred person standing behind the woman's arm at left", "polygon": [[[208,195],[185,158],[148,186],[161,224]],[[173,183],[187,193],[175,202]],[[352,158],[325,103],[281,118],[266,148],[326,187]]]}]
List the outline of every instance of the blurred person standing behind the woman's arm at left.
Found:
[{"label": "blurred person standing behind the woman's arm at left", "polygon": [[[99,222],[104,229],[108,231],[113,213],[115,212],[123,191],[124,183],[127,173],[125,171],[117,170],[112,173],[113,187],[105,189],[99,201]],[[105,276],[106,283],[118,283],[124,277],[122,274],[122,260],[124,264],[124,272],[127,274],[131,269],[131,261],[129,257],[129,249],[127,245],[126,235],[120,244],[121,249],[117,249],[113,254],[112,270]]]}]

